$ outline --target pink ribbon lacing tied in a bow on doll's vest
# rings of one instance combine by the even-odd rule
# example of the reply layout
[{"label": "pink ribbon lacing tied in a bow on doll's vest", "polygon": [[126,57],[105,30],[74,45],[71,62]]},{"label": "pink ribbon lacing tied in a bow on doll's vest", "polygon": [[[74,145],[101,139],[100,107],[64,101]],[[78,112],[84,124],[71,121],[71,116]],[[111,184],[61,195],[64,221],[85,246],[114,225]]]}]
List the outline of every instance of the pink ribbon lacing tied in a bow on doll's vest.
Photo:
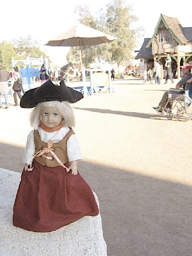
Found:
[{"label": "pink ribbon lacing tied in a bow on doll's vest", "polygon": [[[29,163],[31,163],[31,161],[35,158],[35,157],[44,157],[44,158],[47,158],[49,160],[52,160],[53,158],[52,157],[47,157],[44,155],[44,153],[51,153],[52,156],[55,158],[55,160],[63,167],[66,169],[67,172],[69,172],[70,170],[64,166],[64,164],[61,162],[61,160],[55,155],[55,153],[53,152],[55,149],[54,148],[51,148],[52,147],[52,144],[53,144],[53,140],[49,140],[48,143],[47,143],[47,148],[43,148],[42,150],[38,151],[37,153],[35,153],[32,157],[32,159],[29,161]],[[29,165],[28,163],[28,165]],[[33,167],[32,168],[29,168],[28,171],[31,172],[33,170]]]}]

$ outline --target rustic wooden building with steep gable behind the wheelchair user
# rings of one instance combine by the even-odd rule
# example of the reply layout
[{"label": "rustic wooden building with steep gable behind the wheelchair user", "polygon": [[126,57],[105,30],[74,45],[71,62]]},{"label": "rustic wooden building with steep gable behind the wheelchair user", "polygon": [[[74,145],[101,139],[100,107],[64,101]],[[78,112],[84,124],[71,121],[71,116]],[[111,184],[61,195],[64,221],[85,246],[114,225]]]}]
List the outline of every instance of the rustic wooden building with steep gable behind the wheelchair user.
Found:
[{"label": "rustic wooden building with steep gable behind the wheelchair user", "polygon": [[172,58],[172,71],[175,78],[180,78],[180,66],[183,63],[192,65],[192,27],[182,27],[174,17],[160,15],[152,38],[145,38],[136,59],[140,59],[140,74],[153,68],[157,59],[161,64],[161,78],[165,77],[166,57]]}]

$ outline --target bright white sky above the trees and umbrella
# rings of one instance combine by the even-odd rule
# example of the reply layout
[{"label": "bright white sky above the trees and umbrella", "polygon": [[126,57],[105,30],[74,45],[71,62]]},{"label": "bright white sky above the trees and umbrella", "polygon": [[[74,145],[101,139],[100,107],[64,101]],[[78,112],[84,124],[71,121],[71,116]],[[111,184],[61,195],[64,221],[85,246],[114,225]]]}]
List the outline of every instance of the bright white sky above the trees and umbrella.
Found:
[{"label": "bright white sky above the trees and umbrella", "polygon": [[[12,39],[32,35],[34,40],[41,41],[41,50],[49,55],[53,64],[63,66],[67,64],[65,56],[70,48],[49,47],[44,44],[76,22],[77,17],[74,15],[76,6],[86,4],[91,14],[96,15],[99,8],[105,10],[110,2],[110,0],[9,0],[9,2],[3,0],[0,42],[3,40],[9,42]],[[177,17],[183,27],[192,27],[190,15],[185,14],[187,10],[191,12],[192,1],[182,4],[182,2],[168,0],[125,0],[125,3],[132,6],[131,13],[138,17],[134,27],[143,26],[144,38],[152,37],[160,14]],[[140,46],[138,48],[140,49]]]}]

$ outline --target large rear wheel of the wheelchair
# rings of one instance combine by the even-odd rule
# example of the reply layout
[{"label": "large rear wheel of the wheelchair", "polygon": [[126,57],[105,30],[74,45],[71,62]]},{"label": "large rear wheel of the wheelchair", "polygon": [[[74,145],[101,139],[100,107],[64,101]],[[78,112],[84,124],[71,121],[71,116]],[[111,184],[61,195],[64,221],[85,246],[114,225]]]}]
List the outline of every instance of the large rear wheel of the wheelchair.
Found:
[{"label": "large rear wheel of the wheelchair", "polygon": [[173,100],[172,113],[179,121],[186,122],[192,119],[192,99],[180,95]]}]

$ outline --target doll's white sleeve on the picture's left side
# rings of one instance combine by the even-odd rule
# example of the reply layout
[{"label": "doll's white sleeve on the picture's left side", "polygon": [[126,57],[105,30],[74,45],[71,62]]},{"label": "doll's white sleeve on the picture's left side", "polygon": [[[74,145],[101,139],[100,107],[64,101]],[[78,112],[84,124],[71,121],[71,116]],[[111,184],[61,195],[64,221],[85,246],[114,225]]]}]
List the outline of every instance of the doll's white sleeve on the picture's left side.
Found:
[{"label": "doll's white sleeve on the picture's left side", "polygon": [[[26,148],[23,156],[23,163],[29,163],[29,161],[33,157],[33,154],[35,153],[35,143],[34,143],[33,132],[34,130],[32,130],[27,137]],[[30,163],[32,163],[32,161]]]}]

